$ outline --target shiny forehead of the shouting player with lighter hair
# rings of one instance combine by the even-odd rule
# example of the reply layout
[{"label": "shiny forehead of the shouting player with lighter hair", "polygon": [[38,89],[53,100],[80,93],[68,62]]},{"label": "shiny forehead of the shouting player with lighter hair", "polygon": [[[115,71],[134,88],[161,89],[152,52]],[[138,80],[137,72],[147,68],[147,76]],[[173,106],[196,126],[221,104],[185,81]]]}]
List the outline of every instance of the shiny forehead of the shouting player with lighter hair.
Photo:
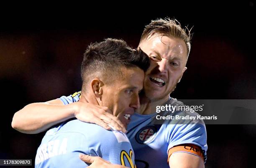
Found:
[{"label": "shiny forehead of the shouting player with lighter hair", "polygon": [[161,57],[187,56],[185,42],[176,37],[152,36],[143,41],[139,47],[148,55],[151,52],[156,52],[157,54],[161,54]]}]

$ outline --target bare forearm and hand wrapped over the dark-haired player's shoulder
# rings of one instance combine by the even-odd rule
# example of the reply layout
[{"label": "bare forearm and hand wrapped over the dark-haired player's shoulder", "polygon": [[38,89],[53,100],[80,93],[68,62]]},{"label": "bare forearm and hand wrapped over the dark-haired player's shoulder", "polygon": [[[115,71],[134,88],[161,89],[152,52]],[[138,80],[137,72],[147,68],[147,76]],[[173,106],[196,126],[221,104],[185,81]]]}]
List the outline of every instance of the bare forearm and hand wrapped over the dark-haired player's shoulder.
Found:
[{"label": "bare forearm and hand wrapped over the dark-haired player's shoulder", "polygon": [[39,133],[73,117],[98,124],[105,129],[110,129],[108,124],[111,124],[118,131],[126,131],[125,126],[113,116],[108,107],[80,101],[63,105],[59,99],[28,104],[14,114],[12,127],[22,133]]}]

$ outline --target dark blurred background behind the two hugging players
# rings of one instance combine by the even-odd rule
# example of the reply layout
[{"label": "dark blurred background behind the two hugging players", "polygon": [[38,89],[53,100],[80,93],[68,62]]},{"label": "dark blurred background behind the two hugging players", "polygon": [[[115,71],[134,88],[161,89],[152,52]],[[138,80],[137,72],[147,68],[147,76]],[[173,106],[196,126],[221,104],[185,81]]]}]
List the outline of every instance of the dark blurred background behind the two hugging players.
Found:
[{"label": "dark blurred background behind the two hugging players", "polygon": [[[60,12],[54,7],[37,6],[29,11],[17,7],[2,12],[0,158],[34,162],[44,133],[28,135],[15,131],[11,128],[13,114],[26,104],[79,91],[80,64],[88,44],[113,37],[137,47],[144,26],[159,17],[175,16],[183,27],[194,26],[188,69],[172,97],[255,99],[256,3],[209,2],[197,6],[198,3],[190,7],[192,12],[169,3],[134,8],[131,5],[128,10],[105,8],[102,13],[87,11],[95,6],[58,7]],[[174,12],[174,8],[179,12]],[[255,167],[255,125],[206,128],[207,168]]]}]

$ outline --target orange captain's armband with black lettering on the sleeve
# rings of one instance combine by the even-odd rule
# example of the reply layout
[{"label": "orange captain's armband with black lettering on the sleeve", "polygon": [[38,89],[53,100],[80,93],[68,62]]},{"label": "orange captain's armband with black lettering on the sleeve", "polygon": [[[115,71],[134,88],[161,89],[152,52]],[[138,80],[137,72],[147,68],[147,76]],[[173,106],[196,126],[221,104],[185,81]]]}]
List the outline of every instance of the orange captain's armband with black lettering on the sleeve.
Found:
[{"label": "orange captain's armband with black lettering on the sleeve", "polygon": [[169,158],[172,155],[172,153],[176,153],[176,152],[191,153],[193,155],[201,157],[202,160],[204,160],[204,154],[202,152],[202,149],[199,146],[194,144],[181,144],[169,149],[167,163],[169,163]]}]

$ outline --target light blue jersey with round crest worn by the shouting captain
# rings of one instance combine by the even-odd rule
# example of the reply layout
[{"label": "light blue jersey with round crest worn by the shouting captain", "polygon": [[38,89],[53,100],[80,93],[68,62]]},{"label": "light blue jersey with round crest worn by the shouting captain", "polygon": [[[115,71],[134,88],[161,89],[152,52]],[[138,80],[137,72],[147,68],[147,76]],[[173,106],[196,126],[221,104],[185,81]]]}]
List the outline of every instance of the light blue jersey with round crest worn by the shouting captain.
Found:
[{"label": "light blue jersey with round crest worn by the shouting captain", "polygon": [[[60,100],[64,104],[72,103],[78,101],[79,96],[80,92],[76,92],[67,97],[61,96]],[[165,104],[182,105],[182,102],[170,98]],[[169,168],[169,149],[187,143],[200,146],[206,160],[207,135],[203,121],[198,121],[198,124],[152,124],[156,115],[133,114],[128,124],[127,136],[135,152],[137,168]]]}]

